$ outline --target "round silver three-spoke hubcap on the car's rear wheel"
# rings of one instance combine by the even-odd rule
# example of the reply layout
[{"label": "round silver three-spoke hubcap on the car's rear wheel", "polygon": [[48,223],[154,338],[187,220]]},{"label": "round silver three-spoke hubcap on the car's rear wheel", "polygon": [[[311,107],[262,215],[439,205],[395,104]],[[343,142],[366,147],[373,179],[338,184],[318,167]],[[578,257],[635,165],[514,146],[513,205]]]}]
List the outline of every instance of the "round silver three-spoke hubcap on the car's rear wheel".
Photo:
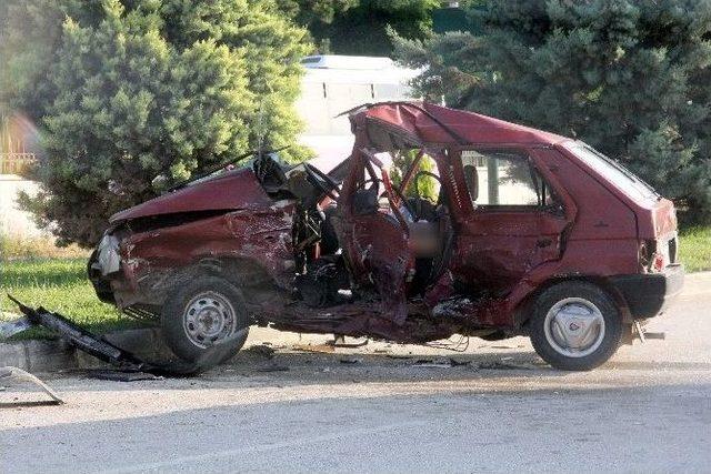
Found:
[{"label": "round silver three-spoke hubcap on the car's rear wheel", "polygon": [[604,339],[604,317],[590,301],[567,297],[545,315],[545,339],[560,354],[584,357],[600,347]]}]

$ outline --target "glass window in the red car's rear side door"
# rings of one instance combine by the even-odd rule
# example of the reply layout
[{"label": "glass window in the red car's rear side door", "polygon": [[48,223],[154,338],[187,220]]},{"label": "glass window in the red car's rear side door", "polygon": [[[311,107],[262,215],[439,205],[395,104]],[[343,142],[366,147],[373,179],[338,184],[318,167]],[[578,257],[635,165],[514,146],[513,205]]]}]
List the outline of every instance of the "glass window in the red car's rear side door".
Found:
[{"label": "glass window in the red car's rear side door", "polygon": [[509,151],[462,151],[464,180],[474,206],[540,208],[550,189],[529,157]]}]

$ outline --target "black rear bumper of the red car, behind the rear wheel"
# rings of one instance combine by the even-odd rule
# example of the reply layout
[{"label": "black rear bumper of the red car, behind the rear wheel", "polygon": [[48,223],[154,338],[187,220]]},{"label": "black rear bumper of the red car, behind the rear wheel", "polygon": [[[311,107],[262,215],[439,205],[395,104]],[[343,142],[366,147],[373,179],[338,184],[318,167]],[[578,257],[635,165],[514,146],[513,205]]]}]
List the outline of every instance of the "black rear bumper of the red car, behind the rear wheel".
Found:
[{"label": "black rear bumper of the red car, behind the rear wheel", "polygon": [[617,275],[610,281],[624,297],[632,319],[642,320],[661,314],[681,292],[684,268],[672,264],[663,273]]}]

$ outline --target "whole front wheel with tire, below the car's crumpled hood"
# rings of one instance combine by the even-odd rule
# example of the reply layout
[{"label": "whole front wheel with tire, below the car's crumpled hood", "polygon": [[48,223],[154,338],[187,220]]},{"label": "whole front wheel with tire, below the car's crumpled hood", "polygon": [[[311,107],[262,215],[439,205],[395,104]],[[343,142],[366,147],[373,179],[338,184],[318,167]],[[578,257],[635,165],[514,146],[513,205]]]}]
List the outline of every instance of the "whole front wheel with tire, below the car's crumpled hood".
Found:
[{"label": "whole front wheel with tire, below the car's crumpled hood", "polygon": [[[168,347],[186,362],[207,356],[221,341],[233,349],[218,363],[232,357],[247,341],[249,315],[242,292],[229,281],[198,276],[177,288],[166,299],[161,329]],[[243,334],[231,340],[240,330]]]}]

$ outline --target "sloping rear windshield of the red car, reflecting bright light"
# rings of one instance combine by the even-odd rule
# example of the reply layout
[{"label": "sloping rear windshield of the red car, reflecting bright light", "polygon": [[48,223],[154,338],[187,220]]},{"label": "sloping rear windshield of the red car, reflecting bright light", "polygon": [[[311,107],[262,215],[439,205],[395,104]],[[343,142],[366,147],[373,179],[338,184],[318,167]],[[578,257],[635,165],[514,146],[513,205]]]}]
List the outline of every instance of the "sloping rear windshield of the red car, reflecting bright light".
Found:
[{"label": "sloping rear windshield of the red car, reflecting bright light", "polygon": [[660,196],[652,186],[634,175],[630,170],[592,147],[579,141],[570,142],[565,144],[565,148],[630,198],[637,201],[647,201]]}]

